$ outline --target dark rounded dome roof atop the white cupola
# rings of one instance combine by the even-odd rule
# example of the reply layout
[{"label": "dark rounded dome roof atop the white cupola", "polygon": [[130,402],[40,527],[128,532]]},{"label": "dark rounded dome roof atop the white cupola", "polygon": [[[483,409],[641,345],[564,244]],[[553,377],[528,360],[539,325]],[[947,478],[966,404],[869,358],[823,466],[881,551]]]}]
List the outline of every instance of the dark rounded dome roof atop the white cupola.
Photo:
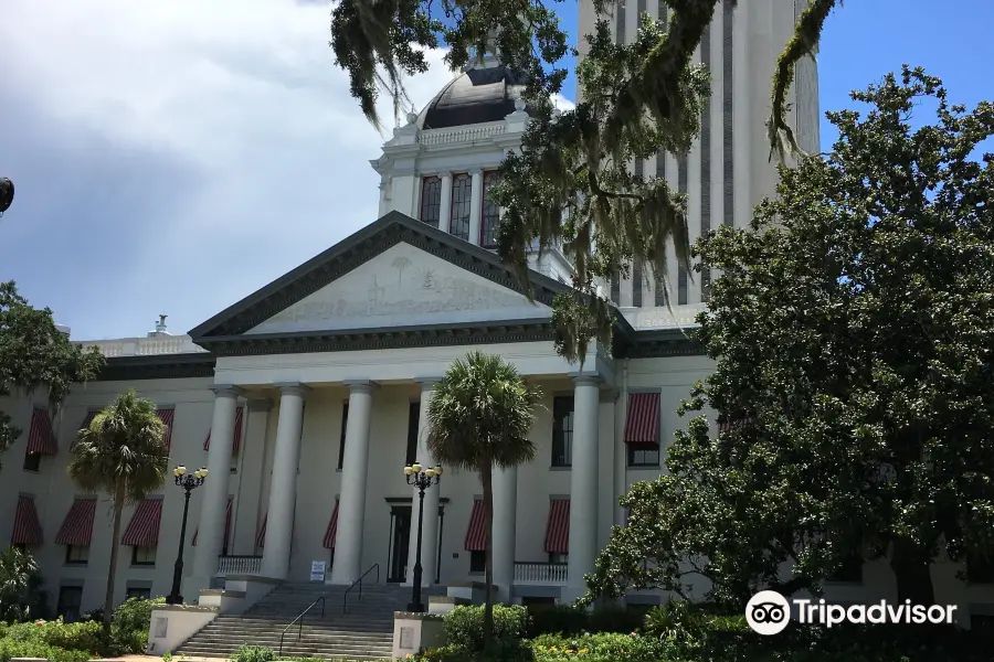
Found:
[{"label": "dark rounded dome roof atop the white cupola", "polygon": [[503,64],[470,68],[429,102],[417,116],[417,128],[445,129],[499,121],[515,111],[515,100],[524,89]]}]

